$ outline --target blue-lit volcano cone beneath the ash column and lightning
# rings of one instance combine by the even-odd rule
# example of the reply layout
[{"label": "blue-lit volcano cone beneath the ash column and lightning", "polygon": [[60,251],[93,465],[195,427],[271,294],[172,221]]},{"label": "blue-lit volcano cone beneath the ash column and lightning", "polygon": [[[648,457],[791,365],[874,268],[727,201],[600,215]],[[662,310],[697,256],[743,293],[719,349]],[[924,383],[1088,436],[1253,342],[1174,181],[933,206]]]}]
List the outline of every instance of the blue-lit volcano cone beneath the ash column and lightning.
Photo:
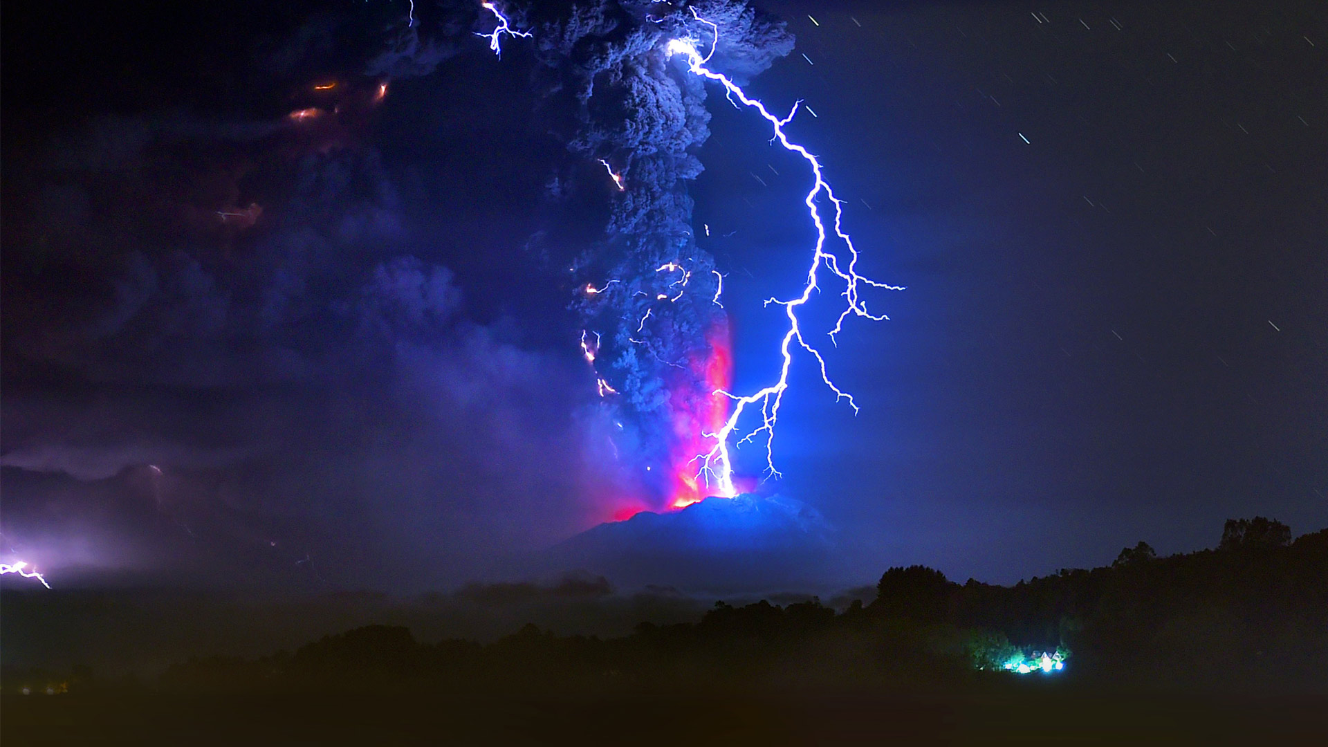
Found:
[{"label": "blue-lit volcano cone beneath the ash column and lightning", "polygon": [[623,587],[684,591],[817,589],[831,580],[831,528],[781,496],[710,497],[669,513],[643,512],[554,545],[544,561]]}]

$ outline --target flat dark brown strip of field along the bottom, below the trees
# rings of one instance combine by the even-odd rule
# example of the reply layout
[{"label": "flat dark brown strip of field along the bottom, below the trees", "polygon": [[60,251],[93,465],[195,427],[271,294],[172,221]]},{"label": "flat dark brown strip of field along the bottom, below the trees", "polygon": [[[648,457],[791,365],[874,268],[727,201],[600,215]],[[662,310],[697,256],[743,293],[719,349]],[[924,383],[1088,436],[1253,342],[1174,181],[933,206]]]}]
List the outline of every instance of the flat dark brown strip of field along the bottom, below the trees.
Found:
[{"label": "flat dark brown strip of field along the bottom, below the trees", "polygon": [[7,695],[27,744],[1324,744],[1328,699],[1105,693]]}]

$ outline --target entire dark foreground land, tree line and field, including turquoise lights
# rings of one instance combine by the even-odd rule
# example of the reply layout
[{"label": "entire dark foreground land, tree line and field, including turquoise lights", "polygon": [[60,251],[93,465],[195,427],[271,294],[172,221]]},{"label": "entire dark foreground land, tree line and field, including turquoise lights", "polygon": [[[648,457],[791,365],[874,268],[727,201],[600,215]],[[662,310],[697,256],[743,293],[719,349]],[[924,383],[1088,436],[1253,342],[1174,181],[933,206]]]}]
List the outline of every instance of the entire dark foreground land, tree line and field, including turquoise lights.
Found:
[{"label": "entire dark foreground land, tree line and field, including turquoise lights", "polygon": [[1328,744],[1328,530],[1267,520],[1012,587],[895,568],[866,605],[716,602],[603,638],[374,623],[256,657],[199,639],[150,677],[12,662],[97,609],[11,599],[5,746]]}]

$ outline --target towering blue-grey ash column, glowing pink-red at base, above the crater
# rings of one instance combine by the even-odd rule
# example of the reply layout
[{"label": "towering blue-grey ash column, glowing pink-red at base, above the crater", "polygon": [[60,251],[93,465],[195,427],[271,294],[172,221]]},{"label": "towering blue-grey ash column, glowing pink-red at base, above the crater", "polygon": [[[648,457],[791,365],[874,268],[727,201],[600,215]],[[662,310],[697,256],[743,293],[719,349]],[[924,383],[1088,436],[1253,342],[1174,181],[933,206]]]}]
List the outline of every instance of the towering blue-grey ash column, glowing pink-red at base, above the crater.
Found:
[{"label": "towering blue-grey ash column, glowing pink-red at base, above the crater", "polygon": [[574,98],[568,149],[611,194],[606,239],[571,267],[575,307],[582,350],[629,447],[615,451],[644,463],[655,508],[734,492],[732,480],[708,484],[697,460],[729,419],[730,400],[714,392],[728,389],[732,368],[724,279],[696,243],[687,194],[709,137],[704,80],[667,53],[703,27],[697,15],[724,29],[714,60],[730,74],[760,73],[793,49],[782,24],[734,0],[576,5],[535,35],[547,90]]}]

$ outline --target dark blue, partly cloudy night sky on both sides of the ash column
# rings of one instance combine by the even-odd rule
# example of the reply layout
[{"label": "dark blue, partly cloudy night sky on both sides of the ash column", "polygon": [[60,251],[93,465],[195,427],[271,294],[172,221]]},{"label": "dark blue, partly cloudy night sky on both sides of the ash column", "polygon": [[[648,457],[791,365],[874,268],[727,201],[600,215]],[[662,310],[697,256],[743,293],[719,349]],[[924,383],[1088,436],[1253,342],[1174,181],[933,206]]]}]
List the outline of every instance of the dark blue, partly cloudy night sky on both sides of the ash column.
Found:
[{"label": "dark blue, partly cloudy night sky on both sides of the ash column", "polygon": [[[612,518],[563,262],[612,187],[534,43],[417,5],[413,48],[405,1],[5,8],[0,561],[410,591]],[[859,268],[907,286],[823,346],[857,416],[795,360],[760,488],[835,528],[827,582],[1328,525],[1328,8],[760,5],[797,47],[748,92],[815,112]],[[693,226],[748,391],[807,177],[706,109]]]}]

